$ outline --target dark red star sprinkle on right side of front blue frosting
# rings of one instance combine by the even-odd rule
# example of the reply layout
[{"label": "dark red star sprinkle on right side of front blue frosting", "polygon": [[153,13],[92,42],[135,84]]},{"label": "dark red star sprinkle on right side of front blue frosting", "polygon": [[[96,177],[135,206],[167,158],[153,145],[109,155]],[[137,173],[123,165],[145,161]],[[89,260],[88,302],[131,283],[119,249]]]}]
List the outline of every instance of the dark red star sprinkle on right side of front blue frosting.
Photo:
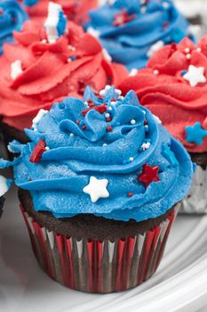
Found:
[{"label": "dark red star sprinkle on right side of front blue frosting", "polygon": [[160,168],[158,166],[152,167],[144,165],[142,167],[142,173],[138,177],[139,182],[143,183],[143,185],[147,187],[152,182],[160,181],[160,177],[158,176],[159,169]]}]

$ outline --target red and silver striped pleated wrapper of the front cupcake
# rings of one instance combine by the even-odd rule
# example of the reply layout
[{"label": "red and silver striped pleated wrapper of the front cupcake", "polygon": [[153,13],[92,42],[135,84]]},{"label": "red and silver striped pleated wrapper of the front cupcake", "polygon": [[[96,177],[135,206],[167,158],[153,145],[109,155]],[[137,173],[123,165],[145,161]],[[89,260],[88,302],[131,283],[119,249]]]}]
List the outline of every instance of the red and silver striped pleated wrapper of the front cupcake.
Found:
[{"label": "red and silver striped pleated wrapper of the front cupcake", "polygon": [[20,208],[36,259],[47,275],[77,291],[108,293],[131,289],[155,273],[180,204],[160,226],[115,242],[54,233]]}]

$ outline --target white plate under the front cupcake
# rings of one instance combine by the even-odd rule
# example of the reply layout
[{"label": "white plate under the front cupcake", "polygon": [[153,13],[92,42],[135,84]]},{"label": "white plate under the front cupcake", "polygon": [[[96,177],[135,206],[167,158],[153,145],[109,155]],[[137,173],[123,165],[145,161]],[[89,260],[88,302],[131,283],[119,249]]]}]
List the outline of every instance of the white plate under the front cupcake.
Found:
[{"label": "white plate under the front cupcake", "polygon": [[0,221],[0,311],[195,312],[207,304],[207,216],[179,216],[162,264],[147,283],[132,291],[92,295],[70,291],[41,271],[15,189],[7,198]]}]

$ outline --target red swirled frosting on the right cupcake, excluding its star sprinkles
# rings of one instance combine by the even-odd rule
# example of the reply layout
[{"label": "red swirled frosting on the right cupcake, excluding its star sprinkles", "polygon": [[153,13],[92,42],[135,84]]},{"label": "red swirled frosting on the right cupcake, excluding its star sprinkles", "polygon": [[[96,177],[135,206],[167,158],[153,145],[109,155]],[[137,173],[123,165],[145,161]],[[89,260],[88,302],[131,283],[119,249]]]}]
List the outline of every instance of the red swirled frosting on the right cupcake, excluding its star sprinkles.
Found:
[{"label": "red swirled frosting on the right cupcake, excluding its star sprinkles", "polygon": [[162,119],[163,125],[189,152],[207,152],[207,137],[201,146],[187,143],[187,126],[199,121],[207,129],[207,83],[190,86],[183,78],[189,65],[203,67],[207,78],[207,37],[197,46],[188,38],[179,45],[164,46],[150,59],[147,69],[139,70],[119,87],[123,94],[133,89],[140,103]]}]

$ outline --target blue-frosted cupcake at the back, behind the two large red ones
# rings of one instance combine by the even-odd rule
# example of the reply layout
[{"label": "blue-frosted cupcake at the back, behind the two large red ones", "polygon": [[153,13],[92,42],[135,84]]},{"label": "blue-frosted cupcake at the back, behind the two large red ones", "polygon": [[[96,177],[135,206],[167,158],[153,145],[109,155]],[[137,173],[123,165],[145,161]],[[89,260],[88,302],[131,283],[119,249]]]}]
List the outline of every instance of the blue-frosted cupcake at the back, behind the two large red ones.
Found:
[{"label": "blue-frosted cupcake at the back, behind the two large red ones", "polygon": [[187,20],[171,0],[116,0],[89,15],[87,31],[128,70],[145,67],[163,45],[190,36]]}]

